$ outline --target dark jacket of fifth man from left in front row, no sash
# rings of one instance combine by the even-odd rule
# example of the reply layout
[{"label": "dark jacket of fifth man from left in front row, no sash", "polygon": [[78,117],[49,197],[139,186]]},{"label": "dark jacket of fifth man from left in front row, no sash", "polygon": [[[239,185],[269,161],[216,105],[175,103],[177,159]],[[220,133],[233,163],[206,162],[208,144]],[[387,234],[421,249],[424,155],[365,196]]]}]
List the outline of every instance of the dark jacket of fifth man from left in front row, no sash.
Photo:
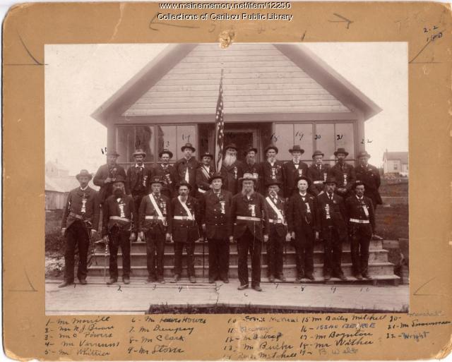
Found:
[{"label": "dark jacket of fifth man from left in front row, no sash", "polygon": [[[224,206],[222,207],[222,203]],[[228,239],[232,235],[232,193],[220,191],[220,197],[209,190],[201,199],[202,224],[206,224],[208,239]]]}]

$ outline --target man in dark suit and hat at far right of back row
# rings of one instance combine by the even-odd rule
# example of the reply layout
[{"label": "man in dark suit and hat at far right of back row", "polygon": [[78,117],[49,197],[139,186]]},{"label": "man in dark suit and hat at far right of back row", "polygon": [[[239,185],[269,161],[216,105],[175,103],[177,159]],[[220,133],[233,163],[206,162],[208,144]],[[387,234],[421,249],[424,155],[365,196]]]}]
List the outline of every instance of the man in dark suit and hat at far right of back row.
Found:
[{"label": "man in dark suit and hat at far right of back row", "polygon": [[[364,196],[372,200],[374,210],[376,210],[377,205],[383,204],[379,193],[381,179],[379,169],[369,164],[369,158],[370,155],[366,151],[359,152],[358,166],[355,167],[355,172],[357,181],[364,183]],[[374,234],[373,239],[382,240],[383,238]]]}]

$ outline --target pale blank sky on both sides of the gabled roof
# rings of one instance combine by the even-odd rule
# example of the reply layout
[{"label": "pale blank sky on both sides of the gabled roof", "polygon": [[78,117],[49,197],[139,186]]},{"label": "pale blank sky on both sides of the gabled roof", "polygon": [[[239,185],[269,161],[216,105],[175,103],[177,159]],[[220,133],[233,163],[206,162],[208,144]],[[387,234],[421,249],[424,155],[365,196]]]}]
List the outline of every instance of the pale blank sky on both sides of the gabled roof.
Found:
[{"label": "pale blank sky on both sides of the gabled roof", "polygon": [[[46,44],[45,159],[74,175],[105,163],[107,128],[90,114],[166,44]],[[232,47],[234,44],[232,44]],[[365,122],[369,162],[408,151],[408,45],[405,42],[304,43],[383,111]]]}]

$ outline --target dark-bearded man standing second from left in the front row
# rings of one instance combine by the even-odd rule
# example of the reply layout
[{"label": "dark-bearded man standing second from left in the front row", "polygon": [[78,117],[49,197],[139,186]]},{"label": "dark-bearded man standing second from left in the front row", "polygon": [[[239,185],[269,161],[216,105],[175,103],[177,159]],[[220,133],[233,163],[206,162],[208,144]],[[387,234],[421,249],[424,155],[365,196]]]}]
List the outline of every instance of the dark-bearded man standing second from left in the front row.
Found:
[{"label": "dark-bearded man standing second from left in the front row", "polygon": [[126,180],[117,176],[112,183],[113,194],[102,207],[102,237],[110,249],[109,274],[107,284],[118,281],[118,249],[122,253],[122,281],[130,283],[130,243],[136,239],[138,215],[133,198],[126,195]]}]

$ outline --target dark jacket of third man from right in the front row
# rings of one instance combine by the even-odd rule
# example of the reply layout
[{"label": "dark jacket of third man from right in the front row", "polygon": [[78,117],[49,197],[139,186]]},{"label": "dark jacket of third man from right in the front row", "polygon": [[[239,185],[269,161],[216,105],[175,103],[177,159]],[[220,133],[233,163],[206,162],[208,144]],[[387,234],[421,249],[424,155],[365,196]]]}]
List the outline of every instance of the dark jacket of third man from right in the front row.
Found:
[{"label": "dark jacket of third man from right in the front row", "polygon": [[290,196],[287,205],[287,229],[297,234],[311,234],[318,230],[317,200],[313,195],[307,193],[304,201],[299,193]]}]

